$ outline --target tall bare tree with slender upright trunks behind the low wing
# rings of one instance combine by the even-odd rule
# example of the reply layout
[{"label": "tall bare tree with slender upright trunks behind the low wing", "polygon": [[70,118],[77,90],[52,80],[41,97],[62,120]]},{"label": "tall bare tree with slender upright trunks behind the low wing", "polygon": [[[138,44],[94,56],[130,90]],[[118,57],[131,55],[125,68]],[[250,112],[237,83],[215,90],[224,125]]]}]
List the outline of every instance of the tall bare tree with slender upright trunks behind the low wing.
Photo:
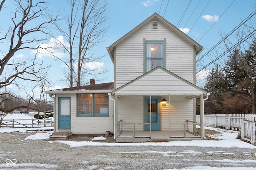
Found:
[{"label": "tall bare tree with slender upright trunks behind the low wing", "polygon": [[[63,62],[68,71],[64,72],[64,81],[69,86],[81,86],[86,83],[86,75],[96,77],[106,70],[95,66],[105,55],[95,55],[95,48],[106,36],[108,19],[106,0],[69,0],[70,13],[64,18],[64,23],[56,22],[57,30],[67,42],[58,42],[68,53],[68,58],[55,56]],[[89,65],[89,66],[88,66]]]}]

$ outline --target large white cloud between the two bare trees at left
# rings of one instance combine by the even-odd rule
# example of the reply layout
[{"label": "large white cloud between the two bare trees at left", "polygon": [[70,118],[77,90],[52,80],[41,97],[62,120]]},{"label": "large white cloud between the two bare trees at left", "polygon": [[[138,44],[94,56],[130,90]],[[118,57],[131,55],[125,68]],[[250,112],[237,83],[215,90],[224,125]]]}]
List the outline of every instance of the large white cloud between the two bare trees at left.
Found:
[{"label": "large white cloud between the two bare trees at left", "polygon": [[38,50],[33,50],[33,54],[37,54],[39,58],[42,56],[56,56],[58,58],[62,58],[66,56],[64,48],[60,45],[68,48],[68,43],[64,41],[63,36],[58,36],[58,38],[51,38],[48,43],[39,44]]}]

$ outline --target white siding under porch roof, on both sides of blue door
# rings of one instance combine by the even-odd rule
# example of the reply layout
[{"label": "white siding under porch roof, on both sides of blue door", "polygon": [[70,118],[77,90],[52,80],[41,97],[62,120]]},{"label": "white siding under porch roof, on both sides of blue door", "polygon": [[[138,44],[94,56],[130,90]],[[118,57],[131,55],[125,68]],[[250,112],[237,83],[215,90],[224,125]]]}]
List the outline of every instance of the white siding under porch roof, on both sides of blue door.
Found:
[{"label": "white siding under porch roof, on both sides of blue door", "polygon": [[[160,129],[169,130],[169,105],[168,96],[166,106],[160,102]],[[118,98],[118,121],[122,123],[144,123],[145,104],[143,96],[125,96]],[[170,96],[170,123],[186,123],[186,120],[193,121],[194,118],[193,100],[182,96]],[[143,131],[144,125],[137,124],[136,131]],[[122,124],[122,130],[132,131],[133,124]],[[184,125],[171,125],[170,130],[184,130]]]}]

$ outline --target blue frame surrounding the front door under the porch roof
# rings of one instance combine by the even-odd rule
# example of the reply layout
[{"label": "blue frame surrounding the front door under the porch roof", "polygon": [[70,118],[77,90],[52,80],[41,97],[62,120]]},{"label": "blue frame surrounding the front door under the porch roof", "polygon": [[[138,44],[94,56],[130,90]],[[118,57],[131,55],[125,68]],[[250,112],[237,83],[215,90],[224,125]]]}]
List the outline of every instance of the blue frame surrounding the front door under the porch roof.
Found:
[{"label": "blue frame surrounding the front door under the porch roof", "polygon": [[[145,123],[148,122],[148,99],[150,99],[150,97],[145,97],[145,111],[144,111],[144,115],[145,115]],[[156,99],[157,100],[157,123],[151,123],[151,131],[160,131],[160,97],[151,97],[152,99]],[[145,130],[146,131],[150,131],[150,124],[146,124],[145,125]]]}]

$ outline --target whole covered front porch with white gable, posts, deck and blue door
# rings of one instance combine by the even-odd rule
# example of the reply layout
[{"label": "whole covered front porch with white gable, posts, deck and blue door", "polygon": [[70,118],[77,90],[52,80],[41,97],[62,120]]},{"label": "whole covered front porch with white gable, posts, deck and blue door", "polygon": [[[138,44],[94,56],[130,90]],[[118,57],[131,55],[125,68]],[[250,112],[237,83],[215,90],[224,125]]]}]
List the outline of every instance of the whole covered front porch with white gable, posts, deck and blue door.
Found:
[{"label": "whole covered front porch with white gable, posts, deck and blue door", "polygon": [[[204,100],[209,93],[161,67],[116,88],[116,142],[192,140],[204,138]],[[196,122],[200,98],[200,122]],[[200,134],[196,125],[201,125]]]}]

